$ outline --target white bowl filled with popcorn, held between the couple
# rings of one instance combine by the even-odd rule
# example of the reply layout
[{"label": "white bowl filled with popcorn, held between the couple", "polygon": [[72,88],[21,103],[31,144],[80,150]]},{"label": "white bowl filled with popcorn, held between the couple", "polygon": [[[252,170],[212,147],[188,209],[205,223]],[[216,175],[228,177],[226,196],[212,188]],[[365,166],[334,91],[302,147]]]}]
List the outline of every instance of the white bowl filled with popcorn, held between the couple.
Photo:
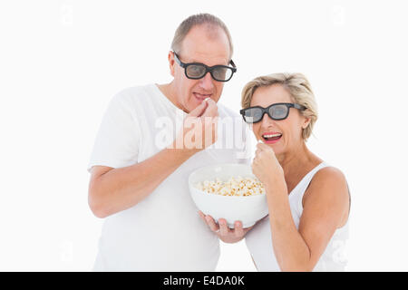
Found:
[{"label": "white bowl filled with popcorn, held between the couple", "polygon": [[197,208],[216,221],[225,218],[253,226],[267,216],[267,197],[249,165],[219,164],[196,169],[189,175],[189,192]]}]

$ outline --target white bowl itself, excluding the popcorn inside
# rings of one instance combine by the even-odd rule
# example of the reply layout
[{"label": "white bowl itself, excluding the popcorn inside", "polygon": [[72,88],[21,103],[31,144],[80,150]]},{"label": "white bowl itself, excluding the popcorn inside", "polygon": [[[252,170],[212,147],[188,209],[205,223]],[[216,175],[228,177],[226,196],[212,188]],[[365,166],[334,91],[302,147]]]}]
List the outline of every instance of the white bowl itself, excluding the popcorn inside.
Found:
[{"label": "white bowl itself, excluding the popcorn inside", "polygon": [[204,180],[227,181],[231,177],[255,178],[250,166],[245,164],[219,164],[196,169],[189,175],[189,192],[197,208],[216,221],[225,218],[228,227],[240,220],[243,227],[253,226],[257,220],[267,216],[267,197],[265,194],[248,197],[221,196],[196,188]]}]

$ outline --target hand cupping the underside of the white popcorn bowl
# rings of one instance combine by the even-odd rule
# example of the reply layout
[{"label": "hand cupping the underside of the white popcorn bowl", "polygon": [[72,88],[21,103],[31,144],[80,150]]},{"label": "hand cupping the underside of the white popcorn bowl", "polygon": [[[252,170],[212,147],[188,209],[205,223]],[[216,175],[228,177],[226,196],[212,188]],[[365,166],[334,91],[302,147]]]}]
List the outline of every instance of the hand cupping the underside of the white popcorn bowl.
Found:
[{"label": "hand cupping the underside of the white popcorn bowl", "polygon": [[236,221],[234,223],[234,228],[231,229],[227,225],[227,220],[225,218],[219,218],[219,224],[217,224],[211,216],[206,216],[199,211],[199,217],[209,226],[209,228],[219,236],[221,241],[224,243],[237,243],[240,241],[245,235],[247,235],[248,230],[252,227],[242,227],[242,223],[240,221]]}]

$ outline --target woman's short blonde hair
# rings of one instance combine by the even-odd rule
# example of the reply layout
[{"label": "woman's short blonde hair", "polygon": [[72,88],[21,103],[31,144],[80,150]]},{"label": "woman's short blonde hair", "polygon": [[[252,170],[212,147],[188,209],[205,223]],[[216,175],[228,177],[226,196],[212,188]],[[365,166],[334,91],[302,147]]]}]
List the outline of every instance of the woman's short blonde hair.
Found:
[{"label": "woman's short blonde hair", "polygon": [[306,129],[302,131],[303,140],[312,134],[313,126],[317,121],[317,103],[309,81],[302,73],[272,73],[260,76],[248,82],[242,90],[241,105],[243,109],[250,107],[252,96],[257,88],[280,84],[290,93],[292,101],[306,107],[300,111],[303,116],[310,118]]}]

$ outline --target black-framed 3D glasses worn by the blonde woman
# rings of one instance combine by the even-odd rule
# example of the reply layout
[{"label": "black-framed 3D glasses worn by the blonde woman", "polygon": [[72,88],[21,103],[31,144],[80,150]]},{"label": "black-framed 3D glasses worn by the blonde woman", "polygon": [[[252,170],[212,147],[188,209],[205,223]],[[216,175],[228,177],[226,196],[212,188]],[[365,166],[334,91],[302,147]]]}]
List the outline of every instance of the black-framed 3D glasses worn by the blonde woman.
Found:
[{"label": "black-framed 3D glasses worn by the blonde woman", "polygon": [[305,106],[299,105],[297,103],[278,102],[270,105],[267,108],[256,106],[242,109],[239,112],[242,115],[242,118],[244,118],[244,121],[248,123],[257,123],[258,121],[261,121],[262,118],[264,118],[264,114],[266,113],[272,120],[285,120],[289,115],[290,108],[295,108],[301,111],[306,110]]}]

